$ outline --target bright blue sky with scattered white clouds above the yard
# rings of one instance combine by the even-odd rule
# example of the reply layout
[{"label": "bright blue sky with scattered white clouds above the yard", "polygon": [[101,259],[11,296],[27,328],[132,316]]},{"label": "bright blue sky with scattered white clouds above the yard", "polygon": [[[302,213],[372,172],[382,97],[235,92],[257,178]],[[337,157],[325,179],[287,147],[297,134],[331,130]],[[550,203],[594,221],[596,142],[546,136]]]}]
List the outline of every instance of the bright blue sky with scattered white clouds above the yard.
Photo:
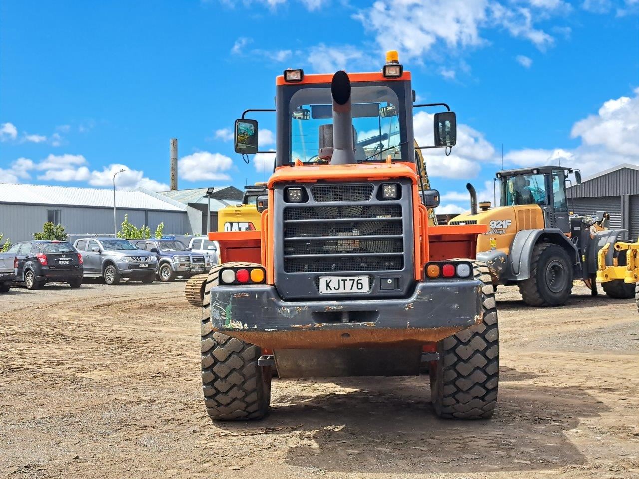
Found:
[{"label": "bright blue sky with scattered white clouds above the yard", "polygon": [[[458,146],[427,157],[442,211],[466,181],[556,161],[587,175],[639,164],[639,0],[246,0],[0,3],[0,183],[161,190],[261,181],[230,131],[273,105],[284,68],[377,71],[387,49],[420,101],[457,112]],[[274,131],[260,120],[263,148]],[[431,141],[431,119],[415,131]]]}]

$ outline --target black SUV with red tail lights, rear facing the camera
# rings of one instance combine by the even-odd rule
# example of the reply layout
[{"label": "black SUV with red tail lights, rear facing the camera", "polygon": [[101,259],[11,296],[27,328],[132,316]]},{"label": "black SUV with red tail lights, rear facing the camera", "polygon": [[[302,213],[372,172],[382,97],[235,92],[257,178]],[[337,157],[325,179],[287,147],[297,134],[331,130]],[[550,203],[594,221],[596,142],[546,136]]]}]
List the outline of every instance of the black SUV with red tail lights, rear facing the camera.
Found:
[{"label": "black SUV with red tail lights, rear facing the camera", "polygon": [[15,255],[15,282],[27,289],[40,289],[46,283],[82,285],[82,255],[67,241],[23,241],[8,250]]}]

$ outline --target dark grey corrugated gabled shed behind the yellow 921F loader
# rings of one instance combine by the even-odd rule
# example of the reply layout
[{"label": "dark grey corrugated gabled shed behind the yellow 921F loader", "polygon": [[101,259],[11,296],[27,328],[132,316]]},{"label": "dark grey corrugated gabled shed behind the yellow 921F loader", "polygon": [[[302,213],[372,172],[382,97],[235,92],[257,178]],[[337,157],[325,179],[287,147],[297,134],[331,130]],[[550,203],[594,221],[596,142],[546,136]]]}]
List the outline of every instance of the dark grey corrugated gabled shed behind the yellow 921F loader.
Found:
[{"label": "dark grey corrugated gabled shed behind the yellow 921F loader", "polygon": [[630,239],[639,235],[639,166],[624,163],[598,172],[567,188],[567,196],[575,214],[606,211],[610,228],[627,229]]}]

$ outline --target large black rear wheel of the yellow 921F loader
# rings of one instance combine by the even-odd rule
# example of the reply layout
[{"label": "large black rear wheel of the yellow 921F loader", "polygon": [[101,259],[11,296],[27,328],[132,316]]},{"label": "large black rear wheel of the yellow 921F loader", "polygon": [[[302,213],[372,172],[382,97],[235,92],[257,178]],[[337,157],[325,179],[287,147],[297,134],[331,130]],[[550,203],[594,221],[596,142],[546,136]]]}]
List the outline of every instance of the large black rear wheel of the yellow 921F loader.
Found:
[{"label": "large black rear wheel of the yellow 921F loader", "polygon": [[528,306],[562,306],[573,290],[573,266],[564,248],[551,243],[535,245],[530,278],[518,284]]}]

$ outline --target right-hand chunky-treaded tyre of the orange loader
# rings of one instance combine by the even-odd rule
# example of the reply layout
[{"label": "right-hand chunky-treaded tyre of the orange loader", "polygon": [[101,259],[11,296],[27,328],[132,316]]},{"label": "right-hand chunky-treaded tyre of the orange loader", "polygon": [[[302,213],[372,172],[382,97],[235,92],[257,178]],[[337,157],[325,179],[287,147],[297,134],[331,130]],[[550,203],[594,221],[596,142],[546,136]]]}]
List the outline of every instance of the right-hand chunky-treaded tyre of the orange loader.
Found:
[{"label": "right-hand chunky-treaded tyre of the orange loader", "polygon": [[499,331],[486,264],[475,263],[475,279],[482,282],[482,322],[438,342],[440,359],[431,362],[431,402],[440,418],[485,419],[497,404]]}]

